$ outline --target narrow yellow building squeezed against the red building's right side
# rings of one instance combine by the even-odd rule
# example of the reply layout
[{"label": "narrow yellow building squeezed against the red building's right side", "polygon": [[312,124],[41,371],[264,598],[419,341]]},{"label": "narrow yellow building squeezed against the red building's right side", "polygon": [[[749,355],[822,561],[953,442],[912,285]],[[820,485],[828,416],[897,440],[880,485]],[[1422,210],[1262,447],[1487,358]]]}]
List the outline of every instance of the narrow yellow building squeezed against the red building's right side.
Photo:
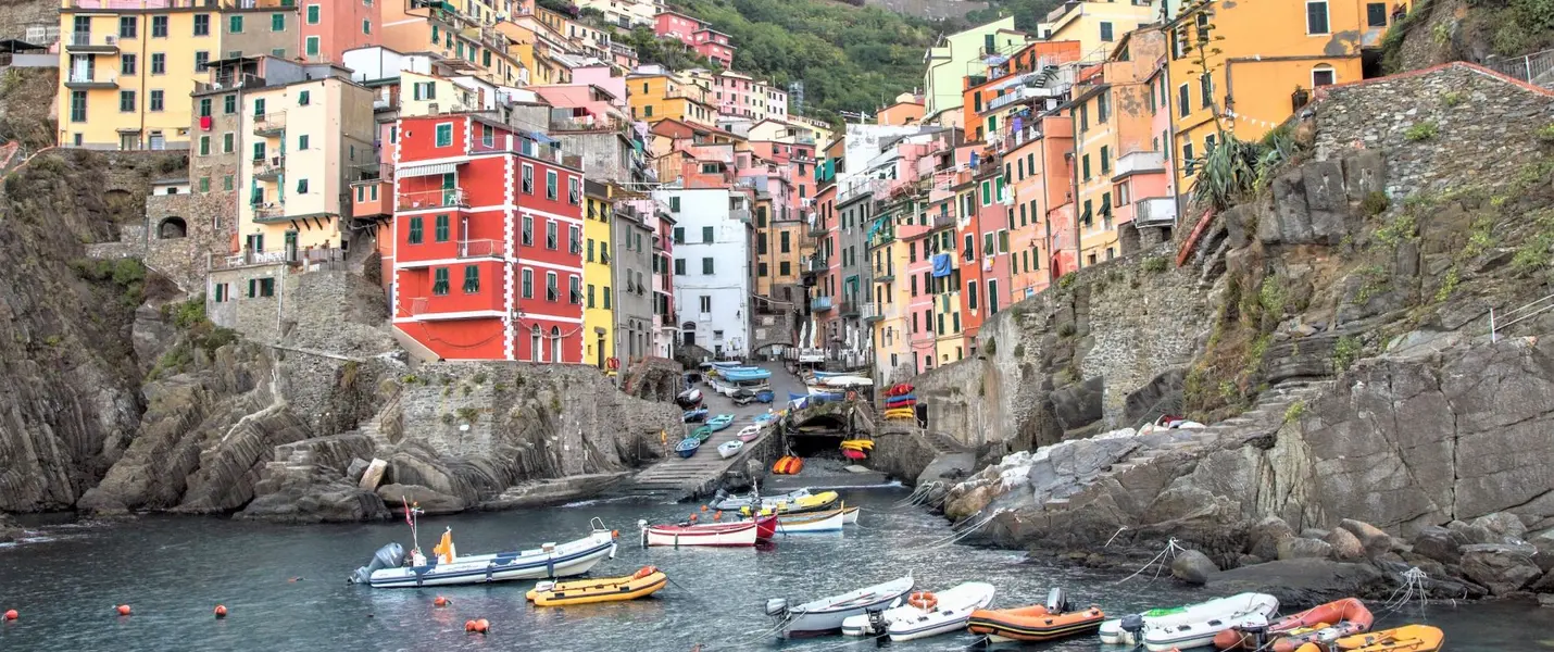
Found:
[{"label": "narrow yellow building squeezed against the red building's right side", "polygon": [[583,182],[584,214],[583,238],[583,284],[587,286],[583,303],[583,362],[606,368],[615,357],[615,307],[614,279],[609,256],[612,244],[611,188]]}]

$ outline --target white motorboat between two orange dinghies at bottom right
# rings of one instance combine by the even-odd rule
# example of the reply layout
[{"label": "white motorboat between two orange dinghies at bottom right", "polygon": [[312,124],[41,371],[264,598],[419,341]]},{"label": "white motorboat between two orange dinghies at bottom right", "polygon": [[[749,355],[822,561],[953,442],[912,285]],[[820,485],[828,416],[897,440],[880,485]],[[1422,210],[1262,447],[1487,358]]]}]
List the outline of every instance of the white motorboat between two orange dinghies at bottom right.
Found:
[{"label": "white motorboat between two orange dinghies at bottom right", "polygon": [[1138,646],[1152,652],[1214,644],[1214,635],[1237,626],[1267,623],[1279,599],[1267,593],[1237,593],[1175,609],[1155,609],[1100,624],[1100,643]]}]

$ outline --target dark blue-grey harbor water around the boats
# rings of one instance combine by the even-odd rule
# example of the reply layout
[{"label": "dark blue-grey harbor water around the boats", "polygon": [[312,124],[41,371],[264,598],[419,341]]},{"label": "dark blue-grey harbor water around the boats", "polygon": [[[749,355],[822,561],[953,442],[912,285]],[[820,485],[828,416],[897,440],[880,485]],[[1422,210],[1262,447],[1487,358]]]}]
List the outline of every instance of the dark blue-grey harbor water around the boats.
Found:
[{"label": "dark blue-grey harbor water around the boats", "polygon": [[[597,517],[620,531],[620,548],[594,574],[656,565],[673,581],[650,599],[561,609],[528,605],[524,591],[533,582],[418,590],[347,584],[382,543],[409,543],[404,520],[275,526],[141,517],[45,526],[48,540],[0,548],[0,610],[20,612],[20,619],[0,623],[0,650],[858,650],[880,643],[775,640],[766,599],[799,604],[908,571],[926,590],[991,582],[995,607],[1041,602],[1051,587],[1108,613],[1209,598],[1153,573],[1119,582],[1119,573],[946,543],[953,532],[940,517],[895,506],[906,495],[901,487],[844,491],[848,505],[864,509],[856,528],[779,537],[771,550],[639,546],[639,518],[682,518],[690,505],[583,503],[421,520],[426,550],[451,526],[460,551],[479,554],[577,539]],[[438,595],[452,604],[434,607]],[[117,604],[129,604],[134,615],[115,615]],[[228,618],[213,618],[216,604],[227,605]],[[491,632],[465,633],[471,618],[488,619]],[[1453,652],[1554,649],[1554,609],[1529,602],[1414,604],[1383,615],[1378,626],[1409,621],[1442,627]],[[976,641],[957,633],[886,646],[960,650]],[[1029,649],[1124,650],[1094,636]]]}]

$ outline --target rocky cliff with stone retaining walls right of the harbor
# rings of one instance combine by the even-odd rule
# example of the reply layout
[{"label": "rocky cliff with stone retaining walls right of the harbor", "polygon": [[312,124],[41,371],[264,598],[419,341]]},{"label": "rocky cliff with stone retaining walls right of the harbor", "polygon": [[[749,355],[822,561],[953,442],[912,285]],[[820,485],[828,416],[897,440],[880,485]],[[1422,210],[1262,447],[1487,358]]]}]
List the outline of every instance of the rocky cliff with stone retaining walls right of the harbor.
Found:
[{"label": "rocky cliff with stone retaining walls right of the harbor", "polygon": [[[1366,557],[1464,582],[1445,593],[1532,585],[1554,548],[1515,546],[1554,532],[1554,315],[1510,310],[1554,295],[1548,124],[1554,95],[1467,65],[1330,88],[1305,154],[1211,217],[1197,264],[1083,270],[920,379],[936,428],[1041,446],[949,489],[946,515],[1012,546],[1176,537],[1221,567]],[[1402,539],[1355,553],[1377,528]]]}]

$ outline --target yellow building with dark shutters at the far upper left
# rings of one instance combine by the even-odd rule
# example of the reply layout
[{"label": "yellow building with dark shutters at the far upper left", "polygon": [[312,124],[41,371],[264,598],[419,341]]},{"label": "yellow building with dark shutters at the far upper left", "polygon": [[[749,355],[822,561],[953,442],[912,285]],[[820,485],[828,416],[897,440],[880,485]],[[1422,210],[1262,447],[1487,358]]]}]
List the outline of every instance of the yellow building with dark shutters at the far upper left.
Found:
[{"label": "yellow building with dark shutters at the far upper left", "polygon": [[[210,0],[177,8],[59,9],[59,143],[93,149],[190,146],[190,93],[207,62],[297,54],[297,8]],[[93,3],[96,5],[96,3]],[[106,5],[106,3],[104,3]],[[286,3],[291,5],[291,3]]]}]

